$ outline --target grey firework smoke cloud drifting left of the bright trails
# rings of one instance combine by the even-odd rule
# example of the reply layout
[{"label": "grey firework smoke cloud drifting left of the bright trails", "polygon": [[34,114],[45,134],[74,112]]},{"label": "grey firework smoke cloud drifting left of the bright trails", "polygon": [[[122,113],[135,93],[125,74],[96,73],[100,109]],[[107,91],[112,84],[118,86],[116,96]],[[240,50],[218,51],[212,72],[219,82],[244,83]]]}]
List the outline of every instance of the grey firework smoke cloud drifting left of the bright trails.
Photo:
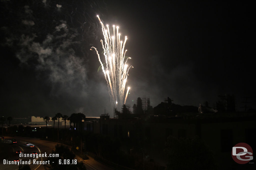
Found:
[{"label": "grey firework smoke cloud drifting left of the bright trails", "polygon": [[[27,78],[29,80],[24,84],[33,79],[32,74],[37,79],[32,81],[41,82],[46,91],[45,99],[39,97],[41,103],[61,100],[69,110],[57,106],[56,110],[74,112],[90,102],[88,96],[93,93],[90,89],[95,87],[95,80],[88,80],[87,75],[89,42],[97,39],[94,32],[98,27],[97,19],[91,19],[91,16],[95,16],[95,9],[104,7],[98,7],[99,3],[1,1],[1,13],[6,16],[2,18],[0,28],[3,35],[1,44],[12,51],[5,56],[19,60],[17,70],[31,72],[31,78]],[[100,88],[102,86],[98,91],[102,91]],[[54,103],[43,109],[50,111],[51,105]]]}]

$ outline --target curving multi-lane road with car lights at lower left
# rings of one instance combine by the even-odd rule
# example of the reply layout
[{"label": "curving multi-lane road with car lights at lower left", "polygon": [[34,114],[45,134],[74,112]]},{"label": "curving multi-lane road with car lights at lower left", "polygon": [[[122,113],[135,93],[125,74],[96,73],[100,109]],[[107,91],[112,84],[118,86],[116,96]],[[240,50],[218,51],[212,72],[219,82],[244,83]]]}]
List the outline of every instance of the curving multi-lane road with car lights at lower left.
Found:
[{"label": "curving multi-lane road with car lights at lower left", "polygon": [[[24,151],[24,153],[33,153],[34,151],[37,151],[37,153],[47,153],[48,155],[51,153],[52,150],[55,149],[55,145],[58,144],[58,142],[52,142],[52,141],[45,141],[40,140],[38,138],[28,138],[28,137],[5,137],[6,140],[16,139],[17,144],[13,145],[13,150],[16,152],[16,150]],[[28,142],[32,145],[35,145],[34,148],[26,147],[25,143]],[[70,146],[68,146],[71,148]],[[22,148],[22,149],[19,149]],[[9,158],[10,161],[13,161],[14,159],[19,158],[19,155],[14,155],[13,157]],[[89,156],[88,156],[89,157]],[[105,164],[102,164],[93,158],[89,157],[89,160],[82,160],[78,155],[76,155],[76,158],[78,162],[82,161],[86,168],[88,170],[113,170],[113,168],[106,166]],[[38,158],[37,161],[46,161],[47,157]],[[2,160],[1,160],[2,161]],[[29,161],[28,158],[22,158],[22,161]],[[31,169],[37,169],[37,170],[44,170],[43,165],[33,165],[33,160],[31,160],[30,168]],[[3,161],[0,162],[0,170],[5,169],[16,169],[18,168],[18,165],[4,165]]]}]

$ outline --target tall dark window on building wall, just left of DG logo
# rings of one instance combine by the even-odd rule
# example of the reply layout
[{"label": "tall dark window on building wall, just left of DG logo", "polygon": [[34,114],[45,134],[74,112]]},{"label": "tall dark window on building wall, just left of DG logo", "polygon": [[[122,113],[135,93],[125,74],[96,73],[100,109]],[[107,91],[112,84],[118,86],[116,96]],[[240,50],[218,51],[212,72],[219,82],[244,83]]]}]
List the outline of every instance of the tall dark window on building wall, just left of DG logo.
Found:
[{"label": "tall dark window on building wall, just left of DG logo", "polygon": [[220,130],[220,145],[221,152],[230,152],[233,147],[232,129]]}]

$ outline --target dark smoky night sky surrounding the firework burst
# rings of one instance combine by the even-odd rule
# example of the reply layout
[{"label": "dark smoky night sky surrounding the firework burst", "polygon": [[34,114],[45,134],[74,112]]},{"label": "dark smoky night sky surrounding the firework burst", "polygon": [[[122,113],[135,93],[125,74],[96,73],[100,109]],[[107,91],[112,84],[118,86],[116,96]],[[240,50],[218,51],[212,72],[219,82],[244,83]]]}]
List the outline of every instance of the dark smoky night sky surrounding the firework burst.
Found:
[{"label": "dark smoky night sky surrounding the firework burst", "polygon": [[[57,5],[58,4],[58,5]],[[61,6],[60,6],[61,5]],[[255,4],[185,1],[1,0],[1,115],[113,115],[91,46],[101,27],[120,27],[132,57],[126,104],[168,96],[214,107],[218,95],[255,108]],[[101,51],[101,50],[99,50]]]}]

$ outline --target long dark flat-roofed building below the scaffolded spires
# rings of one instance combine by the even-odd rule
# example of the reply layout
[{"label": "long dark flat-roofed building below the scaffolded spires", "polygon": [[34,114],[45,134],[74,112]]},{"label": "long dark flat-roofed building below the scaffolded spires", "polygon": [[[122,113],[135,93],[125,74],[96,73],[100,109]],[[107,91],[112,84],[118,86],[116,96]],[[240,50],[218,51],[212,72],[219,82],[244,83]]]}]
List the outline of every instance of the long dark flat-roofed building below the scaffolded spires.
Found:
[{"label": "long dark flat-roofed building below the scaffolded spires", "polygon": [[[195,115],[194,118],[187,116],[189,114]],[[146,155],[163,166],[166,166],[167,163],[163,150],[169,135],[178,138],[199,136],[213,151],[217,163],[224,169],[232,166],[232,159],[223,158],[226,158],[226,155],[230,156],[234,145],[246,142],[253,148],[256,143],[253,135],[256,132],[254,113],[184,113],[182,117],[128,115],[131,117],[127,117],[127,119],[101,116],[101,133],[119,138],[123,143],[129,143],[123,146],[127,149],[126,152],[132,148],[143,148]],[[230,117],[230,115],[235,117]]]}]

